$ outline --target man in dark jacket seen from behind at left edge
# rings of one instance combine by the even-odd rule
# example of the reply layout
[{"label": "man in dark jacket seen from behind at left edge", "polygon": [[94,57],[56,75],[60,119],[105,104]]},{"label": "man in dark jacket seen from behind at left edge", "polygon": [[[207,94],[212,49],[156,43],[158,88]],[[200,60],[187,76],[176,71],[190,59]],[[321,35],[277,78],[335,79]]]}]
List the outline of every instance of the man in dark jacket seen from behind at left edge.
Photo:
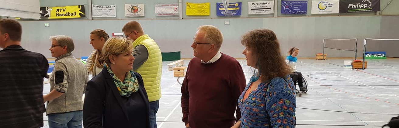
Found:
[{"label": "man in dark jacket seen from behind at left edge", "polygon": [[0,20],[0,128],[43,127],[43,78],[49,64],[21,47],[22,26]]}]

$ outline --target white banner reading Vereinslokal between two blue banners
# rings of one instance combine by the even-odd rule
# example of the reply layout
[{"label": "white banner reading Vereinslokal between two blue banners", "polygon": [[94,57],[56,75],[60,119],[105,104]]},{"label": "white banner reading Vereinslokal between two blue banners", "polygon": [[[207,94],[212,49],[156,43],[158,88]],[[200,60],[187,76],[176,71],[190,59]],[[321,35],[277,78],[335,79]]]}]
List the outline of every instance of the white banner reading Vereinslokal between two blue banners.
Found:
[{"label": "white banner reading Vereinslokal between two blue banners", "polygon": [[274,14],[274,0],[248,2],[248,14]]}]

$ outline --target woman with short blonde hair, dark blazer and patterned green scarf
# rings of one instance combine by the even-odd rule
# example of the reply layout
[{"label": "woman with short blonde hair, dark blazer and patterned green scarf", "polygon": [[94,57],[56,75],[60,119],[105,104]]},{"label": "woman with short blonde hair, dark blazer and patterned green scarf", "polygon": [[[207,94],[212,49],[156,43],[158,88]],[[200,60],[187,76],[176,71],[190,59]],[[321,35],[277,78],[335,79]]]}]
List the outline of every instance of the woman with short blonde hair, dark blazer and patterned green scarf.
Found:
[{"label": "woman with short blonde hair, dark blazer and patterned green scarf", "polygon": [[133,44],[112,37],[101,54],[104,68],[87,83],[85,128],[150,128],[149,102],[142,77],[133,72]]}]

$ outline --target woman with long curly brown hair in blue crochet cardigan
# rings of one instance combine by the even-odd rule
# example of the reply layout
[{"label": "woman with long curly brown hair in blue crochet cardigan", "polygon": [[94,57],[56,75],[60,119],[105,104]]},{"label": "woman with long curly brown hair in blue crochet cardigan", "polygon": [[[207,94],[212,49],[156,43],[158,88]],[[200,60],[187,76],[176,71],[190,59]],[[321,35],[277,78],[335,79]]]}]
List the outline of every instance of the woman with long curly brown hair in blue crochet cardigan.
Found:
[{"label": "woman with long curly brown hair in blue crochet cardigan", "polygon": [[247,65],[256,72],[238,99],[241,119],[232,128],[294,128],[295,86],[275,33],[255,29],[241,43]]}]

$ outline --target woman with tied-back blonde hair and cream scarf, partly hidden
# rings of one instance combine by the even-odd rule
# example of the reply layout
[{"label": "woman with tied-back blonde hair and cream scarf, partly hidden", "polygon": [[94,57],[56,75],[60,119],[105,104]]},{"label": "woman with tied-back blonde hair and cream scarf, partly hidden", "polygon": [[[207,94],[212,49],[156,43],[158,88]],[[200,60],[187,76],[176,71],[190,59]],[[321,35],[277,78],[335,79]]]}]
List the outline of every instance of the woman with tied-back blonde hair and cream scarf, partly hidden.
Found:
[{"label": "woman with tied-back blonde hair and cream scarf, partly hidden", "polygon": [[95,49],[86,61],[86,68],[89,73],[97,76],[103,70],[103,64],[105,63],[101,51],[105,41],[109,39],[109,35],[103,29],[94,29],[90,32],[90,44]]}]

